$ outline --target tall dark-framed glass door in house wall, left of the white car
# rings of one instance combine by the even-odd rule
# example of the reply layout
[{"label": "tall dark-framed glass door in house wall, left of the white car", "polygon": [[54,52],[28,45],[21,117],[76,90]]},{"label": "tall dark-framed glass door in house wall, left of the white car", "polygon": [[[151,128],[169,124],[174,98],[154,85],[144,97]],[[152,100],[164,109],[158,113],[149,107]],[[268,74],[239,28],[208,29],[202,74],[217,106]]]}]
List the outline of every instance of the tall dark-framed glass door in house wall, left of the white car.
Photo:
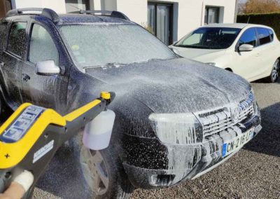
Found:
[{"label": "tall dark-framed glass door in house wall, left of the white car", "polygon": [[148,26],[163,43],[172,43],[172,4],[148,3]]}]

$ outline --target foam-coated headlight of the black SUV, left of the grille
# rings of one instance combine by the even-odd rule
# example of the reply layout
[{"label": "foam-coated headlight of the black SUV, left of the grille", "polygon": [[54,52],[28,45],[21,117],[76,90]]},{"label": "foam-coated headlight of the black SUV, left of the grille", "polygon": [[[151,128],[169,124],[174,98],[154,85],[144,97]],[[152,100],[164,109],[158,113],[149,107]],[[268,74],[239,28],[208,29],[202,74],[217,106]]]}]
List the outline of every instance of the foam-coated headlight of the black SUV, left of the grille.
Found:
[{"label": "foam-coated headlight of the black SUV, left of the grille", "polygon": [[193,114],[151,114],[149,119],[162,143],[197,144],[202,142],[202,125]]}]

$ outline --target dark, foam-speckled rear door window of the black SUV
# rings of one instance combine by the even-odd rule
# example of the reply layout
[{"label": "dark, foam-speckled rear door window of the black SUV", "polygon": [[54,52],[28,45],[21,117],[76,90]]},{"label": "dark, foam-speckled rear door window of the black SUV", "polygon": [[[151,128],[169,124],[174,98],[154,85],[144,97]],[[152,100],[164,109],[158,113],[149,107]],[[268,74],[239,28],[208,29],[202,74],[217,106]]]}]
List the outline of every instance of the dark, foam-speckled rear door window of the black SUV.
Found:
[{"label": "dark, foam-speckled rear door window of the black SUV", "polygon": [[22,57],[25,53],[27,22],[13,22],[8,36],[7,50]]}]

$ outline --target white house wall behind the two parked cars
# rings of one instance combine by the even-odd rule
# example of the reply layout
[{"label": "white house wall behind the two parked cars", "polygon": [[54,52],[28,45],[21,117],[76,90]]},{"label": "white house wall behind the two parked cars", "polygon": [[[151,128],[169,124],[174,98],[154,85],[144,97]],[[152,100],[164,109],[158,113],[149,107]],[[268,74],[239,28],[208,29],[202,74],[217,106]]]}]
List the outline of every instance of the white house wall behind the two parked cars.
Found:
[{"label": "white house wall behind the two parked cars", "polygon": [[[89,0],[93,10],[121,11],[139,25],[147,23],[147,0]],[[220,7],[220,22],[235,21],[235,0],[161,0],[153,2],[174,5],[173,40],[176,41],[193,29],[204,25],[205,6]],[[64,0],[13,0],[14,8],[47,7],[57,13],[66,13]]]}]

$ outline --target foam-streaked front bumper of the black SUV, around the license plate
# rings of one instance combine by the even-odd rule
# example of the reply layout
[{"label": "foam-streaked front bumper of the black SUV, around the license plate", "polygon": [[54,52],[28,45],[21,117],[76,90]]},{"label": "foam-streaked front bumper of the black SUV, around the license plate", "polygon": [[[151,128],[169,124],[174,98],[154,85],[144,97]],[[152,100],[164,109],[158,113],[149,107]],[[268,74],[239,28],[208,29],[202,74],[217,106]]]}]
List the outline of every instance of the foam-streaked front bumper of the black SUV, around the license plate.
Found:
[{"label": "foam-streaked front bumper of the black SUV, around the license plate", "polygon": [[[235,139],[251,128],[254,128],[253,137],[255,137],[261,130],[259,114],[253,116],[246,123],[236,125],[219,135],[209,136],[200,144],[172,145],[162,144],[155,140],[149,140],[151,143],[145,144],[146,138],[137,138],[137,143],[142,142],[142,144],[137,145],[134,141],[134,149],[125,148],[127,160],[123,165],[127,176],[135,187],[164,188],[173,186],[180,181],[199,177],[233,156],[241,148],[222,157],[223,143]],[[127,139],[130,140],[130,146],[132,139],[134,138]],[[139,155],[136,155],[137,151]]]}]

